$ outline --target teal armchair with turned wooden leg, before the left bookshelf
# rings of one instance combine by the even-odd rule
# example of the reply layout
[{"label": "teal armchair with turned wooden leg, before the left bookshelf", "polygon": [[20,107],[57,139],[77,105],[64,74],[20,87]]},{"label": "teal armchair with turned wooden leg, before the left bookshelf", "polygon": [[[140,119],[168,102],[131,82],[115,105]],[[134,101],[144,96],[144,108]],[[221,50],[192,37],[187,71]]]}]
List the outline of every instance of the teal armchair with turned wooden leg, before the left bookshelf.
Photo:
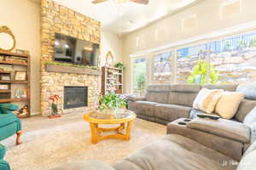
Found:
[{"label": "teal armchair with turned wooden leg, before the left bookshelf", "polygon": [[0,141],[17,134],[16,144],[21,144],[21,122],[12,112],[18,109],[17,105],[0,104]]}]

